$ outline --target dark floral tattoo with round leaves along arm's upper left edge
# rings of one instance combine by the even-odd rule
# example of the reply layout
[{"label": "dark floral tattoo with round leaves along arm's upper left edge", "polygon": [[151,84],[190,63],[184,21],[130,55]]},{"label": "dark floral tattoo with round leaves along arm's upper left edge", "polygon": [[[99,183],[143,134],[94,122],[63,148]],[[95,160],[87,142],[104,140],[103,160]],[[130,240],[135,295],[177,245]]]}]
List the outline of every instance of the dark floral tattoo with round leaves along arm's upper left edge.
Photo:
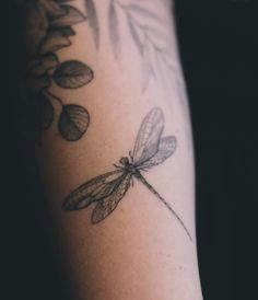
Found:
[{"label": "dark floral tattoo with round leaves along arm's upper left edge", "polygon": [[58,50],[71,45],[70,37],[75,35],[73,25],[86,20],[80,10],[68,4],[70,1],[72,0],[19,1],[24,12],[25,56],[28,61],[28,91],[24,109],[26,113],[31,112],[28,120],[37,141],[40,141],[42,132],[54,123],[54,101],[61,106],[58,129],[67,141],[81,139],[90,124],[86,108],[64,104],[50,92],[54,84],[61,89],[79,89],[94,78],[93,70],[86,64],[78,60],[59,61],[57,55]]}]

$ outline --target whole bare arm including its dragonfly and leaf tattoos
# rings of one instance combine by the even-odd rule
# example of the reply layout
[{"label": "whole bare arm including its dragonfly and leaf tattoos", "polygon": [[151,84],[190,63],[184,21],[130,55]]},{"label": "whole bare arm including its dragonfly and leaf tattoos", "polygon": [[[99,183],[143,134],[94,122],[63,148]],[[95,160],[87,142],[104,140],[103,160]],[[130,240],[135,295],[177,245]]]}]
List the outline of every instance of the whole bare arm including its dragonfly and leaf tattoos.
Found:
[{"label": "whole bare arm including its dragonfly and leaf tattoos", "polygon": [[36,137],[74,299],[201,299],[190,125],[167,1],[59,1],[77,8],[70,19],[58,1],[39,2],[30,20],[44,15],[48,31],[30,59],[51,54],[54,65],[40,82],[33,67]]}]

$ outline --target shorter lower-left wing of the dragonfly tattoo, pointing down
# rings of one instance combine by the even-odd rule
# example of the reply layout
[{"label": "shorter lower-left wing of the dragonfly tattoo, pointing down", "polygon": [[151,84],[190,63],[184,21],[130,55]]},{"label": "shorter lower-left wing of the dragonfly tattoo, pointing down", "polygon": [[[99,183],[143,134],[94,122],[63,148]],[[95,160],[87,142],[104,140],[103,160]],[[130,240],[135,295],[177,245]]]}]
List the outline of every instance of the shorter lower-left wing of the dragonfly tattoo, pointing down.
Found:
[{"label": "shorter lower-left wing of the dragonfly tattoo, pointing down", "polygon": [[92,223],[96,224],[109,216],[126,195],[131,181],[131,174],[125,174],[113,194],[97,203],[92,212]]}]

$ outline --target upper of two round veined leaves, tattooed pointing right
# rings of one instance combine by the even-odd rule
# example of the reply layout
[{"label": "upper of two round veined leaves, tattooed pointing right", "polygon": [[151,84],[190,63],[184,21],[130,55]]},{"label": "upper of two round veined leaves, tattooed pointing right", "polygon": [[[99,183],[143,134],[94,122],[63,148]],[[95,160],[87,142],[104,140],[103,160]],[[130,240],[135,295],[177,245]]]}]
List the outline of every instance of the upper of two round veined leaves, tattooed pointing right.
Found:
[{"label": "upper of two round veined leaves, tattooed pointing right", "polygon": [[78,89],[93,80],[93,71],[85,64],[68,60],[57,67],[52,78],[63,89]]}]

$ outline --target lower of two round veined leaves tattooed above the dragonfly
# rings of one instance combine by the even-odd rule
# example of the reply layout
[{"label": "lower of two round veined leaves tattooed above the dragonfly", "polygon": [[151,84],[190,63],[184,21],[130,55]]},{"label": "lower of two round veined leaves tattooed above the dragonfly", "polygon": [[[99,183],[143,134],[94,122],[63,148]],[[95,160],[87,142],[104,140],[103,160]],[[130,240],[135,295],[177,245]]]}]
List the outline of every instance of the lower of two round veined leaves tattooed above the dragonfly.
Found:
[{"label": "lower of two round veined leaves tattooed above the dragonfly", "polygon": [[90,124],[87,111],[80,105],[66,105],[59,119],[59,131],[68,141],[77,141],[86,132]]}]

